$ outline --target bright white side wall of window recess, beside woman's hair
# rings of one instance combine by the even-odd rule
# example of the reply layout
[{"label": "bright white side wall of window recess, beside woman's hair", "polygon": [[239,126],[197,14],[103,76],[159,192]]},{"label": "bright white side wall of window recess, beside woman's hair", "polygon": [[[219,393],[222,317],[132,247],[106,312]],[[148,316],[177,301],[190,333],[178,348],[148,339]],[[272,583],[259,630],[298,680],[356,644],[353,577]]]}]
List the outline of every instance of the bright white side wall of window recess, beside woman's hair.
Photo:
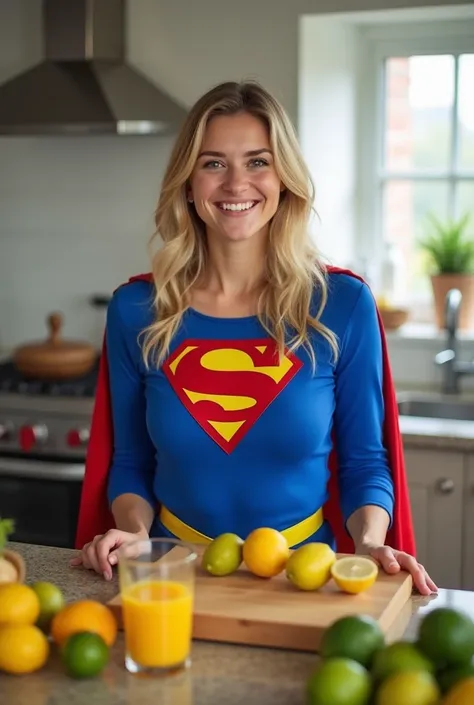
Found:
[{"label": "bright white side wall of window recess, beside woman's hair", "polygon": [[352,266],[356,225],[358,28],[304,17],[299,42],[299,133],[316,184],[314,237],[333,264]]}]

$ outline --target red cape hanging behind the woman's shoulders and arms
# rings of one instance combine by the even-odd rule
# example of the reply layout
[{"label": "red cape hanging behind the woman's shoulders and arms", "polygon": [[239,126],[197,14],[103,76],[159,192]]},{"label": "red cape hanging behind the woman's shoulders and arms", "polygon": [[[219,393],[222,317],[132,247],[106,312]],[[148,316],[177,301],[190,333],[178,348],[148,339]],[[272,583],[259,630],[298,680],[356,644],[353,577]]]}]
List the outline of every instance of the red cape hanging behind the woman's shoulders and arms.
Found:
[{"label": "red cape hanging behind the woman's shoulders and arms", "polygon": [[[328,270],[330,273],[348,274],[363,281],[361,277],[349,270],[338,267],[329,267]],[[151,274],[141,274],[132,277],[129,281],[137,279],[151,281]],[[388,451],[395,490],[393,522],[388,532],[386,543],[392,548],[406,551],[414,556],[416,550],[415,537],[405,475],[403,444],[398,425],[398,408],[388,357],[387,341],[380,314],[379,324],[383,352],[384,443]],[[113,427],[104,337],[76,533],[76,547],[79,549],[85,543],[91,541],[96,534],[103,534],[115,526],[113,516],[108,507],[106,491],[112,449]],[[354,544],[344,528],[338,501],[336,448],[333,449],[330,455],[329,468],[331,471],[329,499],[324,506],[324,516],[329,521],[334,533],[337,551],[340,553],[353,553]]]}]

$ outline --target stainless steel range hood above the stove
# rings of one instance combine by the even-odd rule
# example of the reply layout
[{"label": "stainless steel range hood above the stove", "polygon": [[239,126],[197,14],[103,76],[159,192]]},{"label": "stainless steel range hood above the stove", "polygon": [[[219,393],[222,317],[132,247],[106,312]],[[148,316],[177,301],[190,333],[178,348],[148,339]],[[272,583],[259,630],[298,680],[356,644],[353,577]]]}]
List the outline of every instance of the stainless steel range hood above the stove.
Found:
[{"label": "stainless steel range hood above the stove", "polygon": [[43,0],[44,60],[0,85],[0,134],[175,132],[186,110],[125,59],[124,0]]}]

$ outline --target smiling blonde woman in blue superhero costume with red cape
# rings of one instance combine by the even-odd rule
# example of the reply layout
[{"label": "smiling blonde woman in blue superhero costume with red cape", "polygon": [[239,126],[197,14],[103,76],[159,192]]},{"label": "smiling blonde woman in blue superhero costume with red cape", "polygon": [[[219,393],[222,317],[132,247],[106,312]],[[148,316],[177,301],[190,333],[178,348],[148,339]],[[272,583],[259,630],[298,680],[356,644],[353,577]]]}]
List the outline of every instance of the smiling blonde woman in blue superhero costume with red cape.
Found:
[{"label": "smiling blonde woman in blue superhero costume with red cape", "polygon": [[263,88],[224,83],[196,103],[164,176],[152,274],[109,306],[72,565],[110,579],[124,541],[272,526],[293,547],[349,538],[436,590],[410,555],[377,309],[318,259],[312,201]]}]

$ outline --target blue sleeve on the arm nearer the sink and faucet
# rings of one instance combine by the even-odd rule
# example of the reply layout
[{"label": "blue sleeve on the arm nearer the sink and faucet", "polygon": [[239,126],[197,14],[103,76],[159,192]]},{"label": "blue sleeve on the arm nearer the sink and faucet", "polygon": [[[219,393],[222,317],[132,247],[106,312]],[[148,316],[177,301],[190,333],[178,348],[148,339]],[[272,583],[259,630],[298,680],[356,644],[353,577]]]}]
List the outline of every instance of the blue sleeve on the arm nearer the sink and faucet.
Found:
[{"label": "blue sleeve on the arm nearer the sink and faucet", "polygon": [[383,446],[383,368],[380,326],[369,288],[361,286],[340,344],[335,371],[335,432],[342,514],[368,504],[392,520],[393,482]]}]

